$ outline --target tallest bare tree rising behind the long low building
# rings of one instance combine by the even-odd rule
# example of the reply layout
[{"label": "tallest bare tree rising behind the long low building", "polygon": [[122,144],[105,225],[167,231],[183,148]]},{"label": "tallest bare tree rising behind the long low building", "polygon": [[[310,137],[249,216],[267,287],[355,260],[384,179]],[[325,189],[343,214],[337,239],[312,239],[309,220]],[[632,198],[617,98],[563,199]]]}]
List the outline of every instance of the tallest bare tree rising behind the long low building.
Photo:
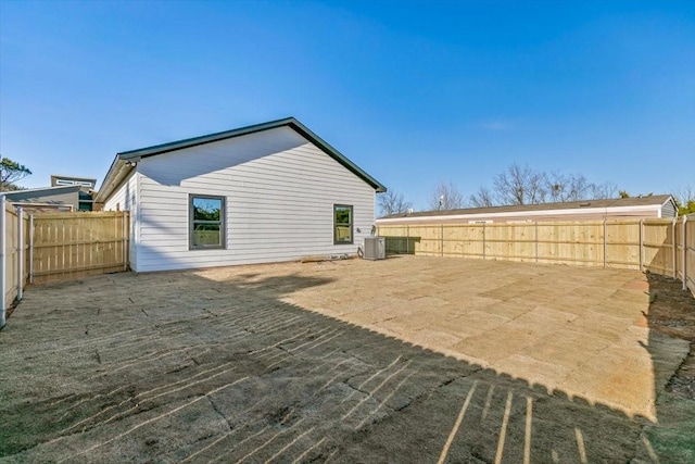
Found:
[{"label": "tallest bare tree rising behind the long low building", "polygon": [[501,204],[535,204],[545,201],[545,173],[531,170],[528,165],[511,163],[507,171],[497,174],[494,188]]}]

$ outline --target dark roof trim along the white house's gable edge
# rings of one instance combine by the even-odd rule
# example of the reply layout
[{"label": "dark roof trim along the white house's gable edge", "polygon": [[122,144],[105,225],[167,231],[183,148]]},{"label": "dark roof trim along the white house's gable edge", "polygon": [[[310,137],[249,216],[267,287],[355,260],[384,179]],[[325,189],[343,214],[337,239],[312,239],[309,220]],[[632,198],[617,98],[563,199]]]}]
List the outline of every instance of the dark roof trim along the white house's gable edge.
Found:
[{"label": "dark roof trim along the white house's gable edge", "polygon": [[369,174],[364,172],[359,166],[350,161],[345,155],[331,147],[324,139],[318,137],[308,127],[300,123],[294,117],[285,117],[282,120],[270,121],[268,123],[255,124],[252,126],[240,127],[238,129],[226,130],[223,133],[208,134],[205,136],[193,137],[184,140],[177,140],[169,143],[156,145],[153,147],[141,148],[138,150],[124,151],[117,154],[117,158],[123,161],[138,160],[147,156],[154,156],[162,153],[167,153],[169,151],[181,150],[185,148],[191,148],[199,145],[212,143],[219,140],[230,139],[235,137],[245,136],[249,134],[255,134],[263,130],[275,129],[278,127],[288,126],[294,129],[302,137],[314,143],[320,150],[323,150],[326,154],[331,156],[333,160],[338,161],[344,167],[346,167],[350,172],[355,174],[357,177],[362,178],[368,185],[370,185],[377,192],[384,192],[387,188],[381,185],[377,179],[371,177]]}]

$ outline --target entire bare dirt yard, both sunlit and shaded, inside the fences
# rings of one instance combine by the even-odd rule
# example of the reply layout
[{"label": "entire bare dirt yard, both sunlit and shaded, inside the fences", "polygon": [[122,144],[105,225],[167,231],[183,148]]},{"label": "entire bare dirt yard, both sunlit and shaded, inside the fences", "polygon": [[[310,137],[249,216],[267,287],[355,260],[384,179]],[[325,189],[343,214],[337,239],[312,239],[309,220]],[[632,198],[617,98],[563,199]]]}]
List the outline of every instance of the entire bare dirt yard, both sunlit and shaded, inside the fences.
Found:
[{"label": "entire bare dirt yard, both sunlit and shaded, inside the fences", "polygon": [[420,256],[31,287],[0,462],[693,462],[680,287]]}]

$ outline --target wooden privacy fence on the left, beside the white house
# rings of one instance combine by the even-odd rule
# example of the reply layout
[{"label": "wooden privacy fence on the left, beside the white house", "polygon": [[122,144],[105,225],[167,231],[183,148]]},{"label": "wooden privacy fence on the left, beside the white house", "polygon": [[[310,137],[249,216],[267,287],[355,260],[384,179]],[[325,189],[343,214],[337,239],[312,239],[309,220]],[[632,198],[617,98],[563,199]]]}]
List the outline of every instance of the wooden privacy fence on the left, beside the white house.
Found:
[{"label": "wooden privacy fence on the left, beside the white house", "polygon": [[29,213],[0,196],[0,327],[23,287],[126,271],[128,212]]}]

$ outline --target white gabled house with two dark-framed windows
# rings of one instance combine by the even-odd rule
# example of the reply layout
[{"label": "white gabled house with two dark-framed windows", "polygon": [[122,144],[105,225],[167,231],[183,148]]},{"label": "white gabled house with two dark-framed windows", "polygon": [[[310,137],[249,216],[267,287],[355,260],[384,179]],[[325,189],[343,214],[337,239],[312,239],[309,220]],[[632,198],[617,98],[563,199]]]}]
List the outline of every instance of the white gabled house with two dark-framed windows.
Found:
[{"label": "white gabled house with two dark-framed windows", "polygon": [[354,254],[386,188],[293,117],[118,153],[96,197],[130,211],[136,272]]}]

